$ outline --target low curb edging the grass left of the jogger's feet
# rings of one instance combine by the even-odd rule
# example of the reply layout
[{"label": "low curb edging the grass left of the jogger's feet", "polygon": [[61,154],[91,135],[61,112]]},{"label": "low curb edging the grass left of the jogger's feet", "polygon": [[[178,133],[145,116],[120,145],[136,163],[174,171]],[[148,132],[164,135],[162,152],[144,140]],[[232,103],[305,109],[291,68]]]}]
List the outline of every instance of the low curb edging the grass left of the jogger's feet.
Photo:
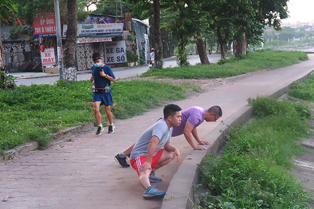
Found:
[{"label": "low curb edging the grass left of the jogger's feet", "polygon": [[[61,141],[62,139],[68,138],[74,134],[77,134],[81,131],[89,129],[93,126],[94,126],[94,122],[91,122],[91,123],[88,123],[84,126],[79,125],[79,126],[74,126],[74,127],[68,127],[68,128],[63,129],[63,130],[60,130],[56,133],[53,133],[52,134],[53,140],[52,140],[51,144],[54,142],[57,142],[57,141]],[[4,151],[4,156],[1,156],[0,163],[6,161],[8,159],[13,159],[14,157],[19,156],[21,154],[25,154],[27,152],[36,150],[36,149],[38,149],[38,147],[39,147],[38,143],[33,141],[33,142],[22,144],[22,145],[17,146],[13,149]]]}]

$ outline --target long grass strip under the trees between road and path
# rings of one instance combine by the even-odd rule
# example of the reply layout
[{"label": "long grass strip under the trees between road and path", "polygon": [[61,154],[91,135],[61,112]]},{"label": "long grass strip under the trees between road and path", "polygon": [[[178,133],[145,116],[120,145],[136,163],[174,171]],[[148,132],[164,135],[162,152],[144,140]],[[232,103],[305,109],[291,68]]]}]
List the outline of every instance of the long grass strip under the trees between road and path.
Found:
[{"label": "long grass strip under the trees between road and path", "polygon": [[285,67],[307,59],[306,53],[300,51],[257,50],[248,52],[241,58],[219,60],[218,63],[213,65],[197,64],[164,69],[153,68],[144,72],[141,77],[156,76],[176,79],[231,77],[253,71]]}]

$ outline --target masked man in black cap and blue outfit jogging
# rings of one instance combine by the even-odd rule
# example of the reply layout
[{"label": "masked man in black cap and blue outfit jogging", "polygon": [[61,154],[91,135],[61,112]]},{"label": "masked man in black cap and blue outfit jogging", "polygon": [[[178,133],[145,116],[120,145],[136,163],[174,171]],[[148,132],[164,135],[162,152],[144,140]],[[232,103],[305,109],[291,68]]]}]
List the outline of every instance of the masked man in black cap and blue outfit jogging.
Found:
[{"label": "masked man in black cap and blue outfit jogging", "polygon": [[89,81],[94,82],[95,90],[93,90],[94,116],[98,125],[96,135],[100,135],[105,129],[101,123],[100,106],[104,105],[106,115],[109,121],[108,133],[113,133],[115,126],[113,125],[113,114],[110,106],[113,105],[111,94],[111,81],[115,82],[116,77],[111,68],[102,62],[99,52],[95,52],[92,56],[95,65],[92,66],[92,76]]}]

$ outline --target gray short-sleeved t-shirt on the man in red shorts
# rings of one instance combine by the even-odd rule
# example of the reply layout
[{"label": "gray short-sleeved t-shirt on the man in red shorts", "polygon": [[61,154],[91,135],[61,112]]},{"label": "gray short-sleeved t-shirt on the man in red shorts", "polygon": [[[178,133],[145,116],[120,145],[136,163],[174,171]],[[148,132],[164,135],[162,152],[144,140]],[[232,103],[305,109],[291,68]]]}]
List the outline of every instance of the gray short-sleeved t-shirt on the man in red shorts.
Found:
[{"label": "gray short-sleeved t-shirt on the man in red shorts", "polygon": [[154,152],[155,156],[158,150],[163,148],[167,142],[170,142],[171,133],[172,127],[168,128],[166,121],[160,119],[142,133],[132,149],[130,159],[134,159],[138,156],[147,156],[148,145],[153,136],[159,138],[157,148]]}]

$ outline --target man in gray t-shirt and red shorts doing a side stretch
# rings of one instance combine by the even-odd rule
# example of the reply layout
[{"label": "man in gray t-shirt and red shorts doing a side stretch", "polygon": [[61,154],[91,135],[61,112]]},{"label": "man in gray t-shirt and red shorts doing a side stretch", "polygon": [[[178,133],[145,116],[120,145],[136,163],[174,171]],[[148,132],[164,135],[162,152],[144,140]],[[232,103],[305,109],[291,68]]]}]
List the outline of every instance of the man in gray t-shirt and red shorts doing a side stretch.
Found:
[{"label": "man in gray t-shirt and red shorts doing a side stretch", "polygon": [[181,123],[181,108],[175,104],[166,105],[164,118],[146,129],[135,143],[131,152],[130,163],[138,173],[139,184],[145,189],[144,199],[162,199],[164,191],[157,190],[150,182],[160,182],[155,170],[167,165],[177,158],[180,162],[180,152],[171,144],[172,127]]}]

